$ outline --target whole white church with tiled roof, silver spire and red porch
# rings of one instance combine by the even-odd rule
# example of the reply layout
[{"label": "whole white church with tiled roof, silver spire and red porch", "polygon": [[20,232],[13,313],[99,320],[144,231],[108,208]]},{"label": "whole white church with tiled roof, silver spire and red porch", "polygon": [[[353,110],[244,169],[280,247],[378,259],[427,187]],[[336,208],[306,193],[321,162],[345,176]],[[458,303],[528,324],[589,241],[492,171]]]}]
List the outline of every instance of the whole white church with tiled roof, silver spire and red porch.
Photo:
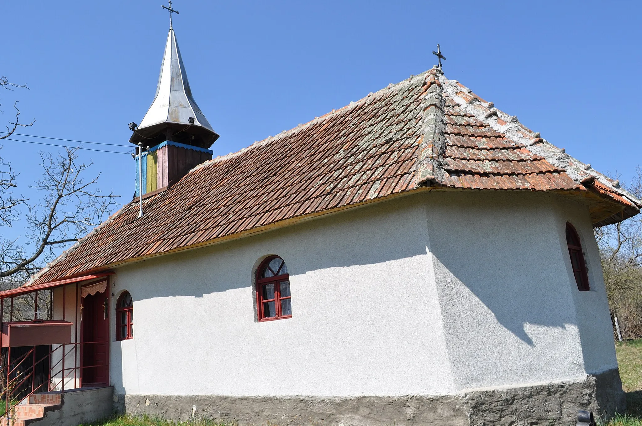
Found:
[{"label": "whole white church with tiled roof, silver spire and red porch", "polygon": [[593,231],[639,212],[617,181],[440,66],[221,157],[209,119],[170,28],[134,199],[0,293],[53,300],[1,319],[3,347],[48,362],[29,404],[335,426],[625,409]]}]

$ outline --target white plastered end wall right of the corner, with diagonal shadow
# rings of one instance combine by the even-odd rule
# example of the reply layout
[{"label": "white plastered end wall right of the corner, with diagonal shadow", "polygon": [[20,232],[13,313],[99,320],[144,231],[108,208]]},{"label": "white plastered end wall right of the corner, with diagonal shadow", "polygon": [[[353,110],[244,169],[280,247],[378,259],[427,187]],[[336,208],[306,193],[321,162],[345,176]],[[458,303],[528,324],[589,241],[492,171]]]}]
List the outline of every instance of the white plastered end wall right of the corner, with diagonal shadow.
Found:
[{"label": "white plastered end wall right of the corner, with diagonal shadow", "polygon": [[591,269],[600,265],[586,207],[555,194],[471,191],[435,192],[426,209],[456,389],[617,366],[602,275],[580,292],[570,269],[566,221],[581,230]]}]

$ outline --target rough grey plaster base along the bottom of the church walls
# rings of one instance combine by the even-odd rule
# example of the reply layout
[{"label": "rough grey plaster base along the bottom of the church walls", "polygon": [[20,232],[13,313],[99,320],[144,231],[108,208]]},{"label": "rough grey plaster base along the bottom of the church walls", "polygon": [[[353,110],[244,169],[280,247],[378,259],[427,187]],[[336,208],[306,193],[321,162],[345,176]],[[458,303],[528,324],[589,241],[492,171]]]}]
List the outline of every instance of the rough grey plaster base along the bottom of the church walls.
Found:
[{"label": "rough grey plaster base along the bottom of the church walls", "polygon": [[116,411],[172,420],[213,418],[240,425],[568,425],[578,409],[611,418],[626,408],[618,370],[562,382],[446,396],[114,395]]}]

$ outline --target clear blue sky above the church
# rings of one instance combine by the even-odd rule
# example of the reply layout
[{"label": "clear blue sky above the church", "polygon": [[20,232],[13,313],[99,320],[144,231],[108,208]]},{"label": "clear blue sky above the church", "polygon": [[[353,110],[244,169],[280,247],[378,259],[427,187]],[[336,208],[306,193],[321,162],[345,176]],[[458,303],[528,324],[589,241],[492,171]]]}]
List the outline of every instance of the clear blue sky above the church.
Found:
[{"label": "clear blue sky above the church", "polygon": [[[33,135],[125,143],[153,99],[168,30],[162,0],[2,2],[0,75]],[[175,0],[178,44],[214,155],[306,123],[435,64],[598,171],[640,159],[642,2]],[[6,121],[6,120],[3,120]],[[23,132],[24,133],[24,132]],[[38,151],[0,156],[37,178]],[[126,149],[125,149],[126,150]],[[128,155],[84,151],[101,186],[134,192]],[[4,232],[4,231],[3,231]]]}]

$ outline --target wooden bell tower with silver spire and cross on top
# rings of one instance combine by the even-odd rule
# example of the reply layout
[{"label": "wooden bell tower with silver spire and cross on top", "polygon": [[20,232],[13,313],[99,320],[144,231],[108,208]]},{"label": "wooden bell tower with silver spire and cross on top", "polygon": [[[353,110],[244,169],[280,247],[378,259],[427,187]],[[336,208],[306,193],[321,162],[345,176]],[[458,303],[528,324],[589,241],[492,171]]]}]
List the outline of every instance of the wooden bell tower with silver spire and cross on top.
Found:
[{"label": "wooden bell tower with silver spire and cross on top", "polygon": [[[178,13],[169,7],[169,33],[160,64],[159,82],[152,106],[139,126],[130,125],[133,144],[150,147],[141,156],[136,156],[136,196],[139,196],[141,180],[143,194],[173,185],[185,176],[189,169],[212,159],[208,148],[218,139],[218,134],[209,124],[192,96],[187,73],[180,56],[176,34],[171,23],[171,14]],[[139,179],[139,170],[142,179]]]}]

